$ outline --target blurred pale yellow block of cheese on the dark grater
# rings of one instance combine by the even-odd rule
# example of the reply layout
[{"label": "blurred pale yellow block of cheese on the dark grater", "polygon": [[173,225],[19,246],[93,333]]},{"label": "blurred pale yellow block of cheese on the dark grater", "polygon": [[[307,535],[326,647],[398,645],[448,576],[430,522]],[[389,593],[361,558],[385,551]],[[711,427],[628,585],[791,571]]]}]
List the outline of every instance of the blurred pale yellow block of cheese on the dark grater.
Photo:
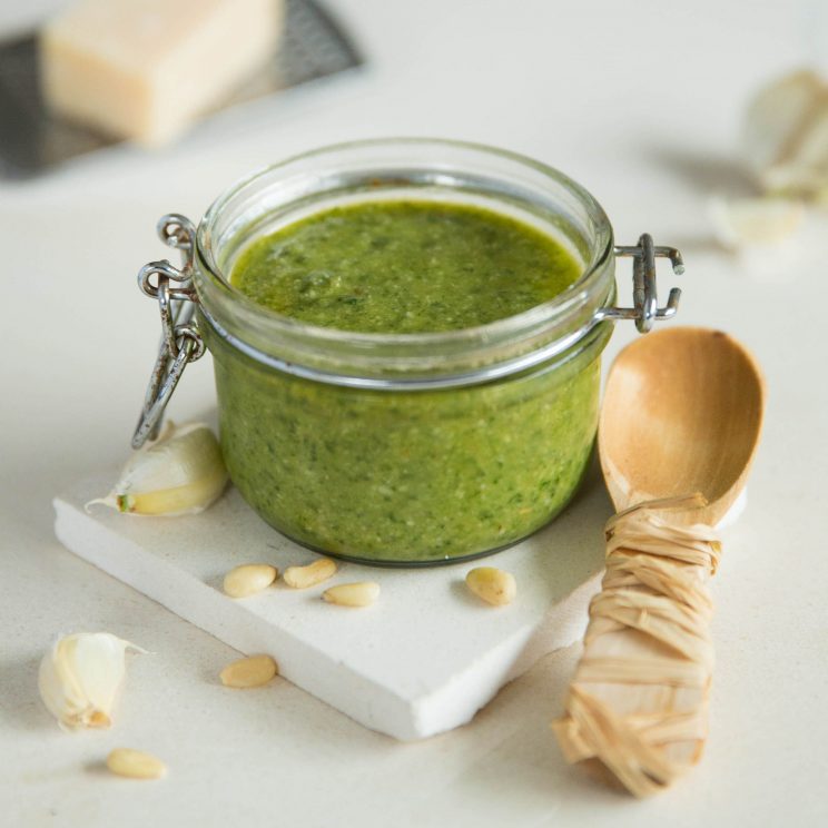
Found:
[{"label": "blurred pale yellow block of cheese on the dark grater", "polygon": [[145,145],[178,136],[260,69],[284,0],[80,0],[40,38],[52,111]]}]

